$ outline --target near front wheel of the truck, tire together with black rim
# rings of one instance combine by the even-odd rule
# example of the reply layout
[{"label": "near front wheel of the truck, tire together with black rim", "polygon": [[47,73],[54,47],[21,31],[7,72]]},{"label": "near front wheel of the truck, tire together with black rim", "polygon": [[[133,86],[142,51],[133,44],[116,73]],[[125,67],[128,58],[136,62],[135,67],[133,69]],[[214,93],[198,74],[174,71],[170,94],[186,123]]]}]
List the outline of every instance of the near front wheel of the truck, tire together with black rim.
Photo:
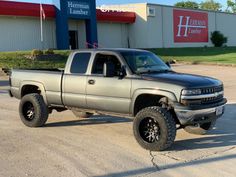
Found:
[{"label": "near front wheel of the truck, tire together with black rim", "polygon": [[145,149],[162,151],[169,148],[176,136],[176,123],[171,114],[160,107],[141,110],[134,119],[134,136]]}]

